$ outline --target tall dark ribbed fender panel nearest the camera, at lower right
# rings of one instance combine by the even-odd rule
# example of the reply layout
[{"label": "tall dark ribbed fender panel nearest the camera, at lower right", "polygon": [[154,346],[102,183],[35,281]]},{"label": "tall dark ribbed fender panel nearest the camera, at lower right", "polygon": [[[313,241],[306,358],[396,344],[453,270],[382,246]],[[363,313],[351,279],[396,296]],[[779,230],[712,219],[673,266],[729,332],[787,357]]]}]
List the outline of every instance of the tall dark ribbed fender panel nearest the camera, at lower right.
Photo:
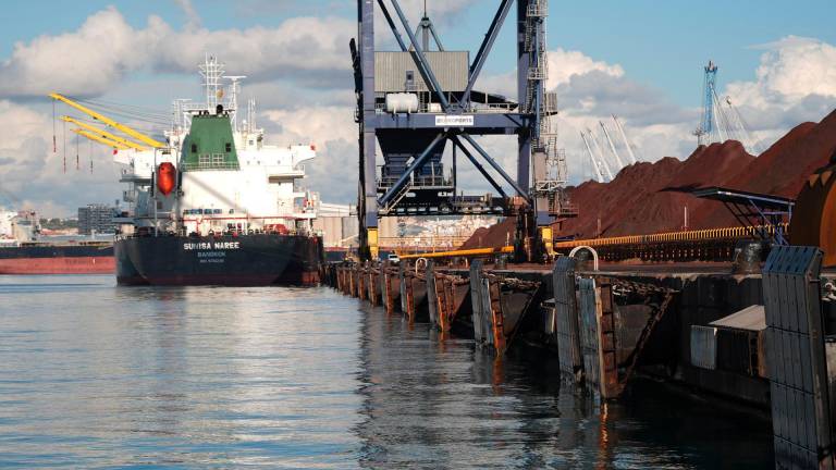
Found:
[{"label": "tall dark ribbed fender panel nearest the camera, at lower right", "polygon": [[763,268],[777,468],[834,468],[826,349],[814,247],[774,247]]}]

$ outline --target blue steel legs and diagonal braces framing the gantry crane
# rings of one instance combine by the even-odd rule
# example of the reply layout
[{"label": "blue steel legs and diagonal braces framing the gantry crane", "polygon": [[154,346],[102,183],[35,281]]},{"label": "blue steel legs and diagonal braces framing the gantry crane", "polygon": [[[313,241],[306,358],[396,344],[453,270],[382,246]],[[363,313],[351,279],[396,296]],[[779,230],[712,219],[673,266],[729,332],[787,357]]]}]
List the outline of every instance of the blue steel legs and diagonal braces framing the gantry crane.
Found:
[{"label": "blue steel legs and diagonal braces framing the gantry crane", "polygon": [[[399,189],[404,187],[410,175],[420,170],[423,163],[433,153],[435,147],[445,140],[451,140],[454,147],[463,150],[464,154],[475,164],[479,172],[491,183],[491,185],[499,189],[500,194],[504,196],[499,184],[489,175],[484,168],[479,164],[476,157],[467,151],[462,144],[462,140],[467,141],[476,149],[476,154],[482,157],[482,159],[492,166],[502,178],[517,191],[519,196],[525,198],[529,205],[533,203],[533,199],[530,197],[530,164],[531,164],[531,144],[532,137],[539,132],[539,119],[537,112],[521,112],[524,109],[540,110],[540,100],[543,96],[543,83],[540,82],[536,86],[537,92],[533,94],[534,106],[524,107],[522,102],[526,99],[528,90],[528,72],[529,65],[532,61],[532,52],[526,48],[526,25],[528,22],[529,5],[539,3],[538,0],[501,0],[496,13],[488,28],[487,34],[481,42],[481,46],[469,67],[469,76],[467,87],[457,103],[451,103],[441,89],[439,82],[435,79],[435,75],[423,54],[421,46],[418,44],[418,39],[413,34],[413,30],[406,20],[404,12],[399,5],[398,0],[389,0],[394,8],[397,20],[399,20],[403,30],[406,33],[408,45],[404,41],[398,28],[395,24],[393,15],[386,9],[384,0],[358,0],[357,1],[357,15],[358,15],[358,44],[352,41],[352,55],[354,60],[355,71],[355,88],[358,100],[358,112],[356,121],[359,124],[359,197],[358,197],[358,217],[360,218],[360,245],[368,246],[368,230],[377,230],[379,218],[379,206],[384,205],[395,197]],[[479,74],[484,65],[485,60],[491,53],[491,49],[496,39],[496,36],[505,22],[513,4],[517,5],[517,98],[519,107],[517,112],[504,112],[504,113],[478,113],[467,110],[470,104],[470,95],[474,89],[474,85],[479,77]],[[374,11],[376,4],[383,14],[386,23],[393,33],[401,50],[409,51],[416,63],[418,72],[421,74],[427,87],[430,89],[439,100],[442,111],[446,115],[463,115],[467,114],[468,118],[472,118],[472,125],[467,127],[445,127],[439,125],[437,116],[439,114],[431,113],[414,113],[414,114],[397,114],[397,113],[380,113],[376,109],[376,95],[374,95]],[[433,32],[434,33],[434,32]],[[425,151],[419,153],[411,164],[404,171],[398,181],[379,199],[377,187],[377,171],[376,171],[376,144],[378,138],[378,131],[396,129],[408,133],[410,131],[428,133],[430,129],[438,131],[435,138],[432,138],[429,146]],[[517,177],[513,180],[502,166],[492,159],[489,153],[478,145],[478,143],[471,137],[472,135],[516,135],[518,151],[517,151]],[[545,215],[545,208],[537,208],[538,221],[548,219]]]}]

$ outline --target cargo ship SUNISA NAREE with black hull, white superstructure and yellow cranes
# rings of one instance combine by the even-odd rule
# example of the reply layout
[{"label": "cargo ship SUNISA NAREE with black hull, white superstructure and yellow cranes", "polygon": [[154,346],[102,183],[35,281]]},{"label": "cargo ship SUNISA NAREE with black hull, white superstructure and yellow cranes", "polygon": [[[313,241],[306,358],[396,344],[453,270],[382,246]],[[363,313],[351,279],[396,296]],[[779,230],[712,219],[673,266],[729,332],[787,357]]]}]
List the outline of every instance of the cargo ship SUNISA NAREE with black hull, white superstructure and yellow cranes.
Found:
[{"label": "cargo ship SUNISA NAREE with black hull, white superstructure and yellow cranes", "polygon": [[267,145],[256,126],[255,100],[238,112],[244,77],[224,76],[212,57],[200,74],[206,102],[175,100],[165,141],[52,95],[127,136],[97,138],[113,146],[127,185],[128,210],[114,219],[119,284],[318,283],[318,195],[302,187],[304,163],[316,157],[316,147]]}]

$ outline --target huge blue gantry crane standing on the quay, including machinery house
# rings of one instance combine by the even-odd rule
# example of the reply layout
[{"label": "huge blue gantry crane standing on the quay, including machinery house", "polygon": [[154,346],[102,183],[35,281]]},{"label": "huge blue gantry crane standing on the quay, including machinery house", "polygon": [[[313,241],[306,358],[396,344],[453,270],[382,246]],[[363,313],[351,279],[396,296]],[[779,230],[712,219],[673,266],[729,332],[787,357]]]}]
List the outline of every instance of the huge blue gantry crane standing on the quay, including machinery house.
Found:
[{"label": "huge blue gantry crane standing on the quay, including machinery house", "polygon": [[[469,51],[446,50],[441,45],[426,12],[417,30],[413,28],[402,2],[357,0],[358,36],[349,42],[357,98],[361,258],[377,258],[382,217],[496,213],[531,219],[522,224],[524,237],[531,243],[519,244],[531,249],[519,250],[519,255],[539,259],[540,251],[551,251],[551,224],[577,215],[563,187],[565,153],[556,148],[556,134],[550,125],[557,100],[545,89],[546,0],[499,0],[472,60]],[[516,100],[476,88],[513,10]],[[383,29],[391,30],[396,50],[377,50],[378,13],[385,20],[388,28]],[[430,37],[438,50],[430,50]],[[474,138],[482,135],[516,137],[516,177]],[[380,168],[378,148],[383,157]],[[452,152],[452,174],[442,162],[445,148]],[[464,196],[457,190],[459,152],[500,197]],[[503,186],[513,191],[511,197]]]}]

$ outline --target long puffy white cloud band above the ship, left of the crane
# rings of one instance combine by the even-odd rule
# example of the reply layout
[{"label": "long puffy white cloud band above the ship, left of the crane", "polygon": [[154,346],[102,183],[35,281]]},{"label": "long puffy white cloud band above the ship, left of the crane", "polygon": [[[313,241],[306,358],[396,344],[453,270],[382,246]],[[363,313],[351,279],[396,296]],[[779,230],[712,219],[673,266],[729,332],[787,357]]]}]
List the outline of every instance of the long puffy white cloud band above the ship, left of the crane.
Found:
[{"label": "long puffy white cloud band above the ship, left of the crane", "polygon": [[[194,20],[194,18],[193,18]],[[89,16],[72,33],[17,42],[0,64],[0,97],[44,96],[52,90],[96,96],[139,72],[194,73],[205,53],[226,61],[250,79],[351,77],[348,38],[355,23],[339,17],[293,17],[276,28],[208,30],[190,23],[173,29],[158,16],[132,27],[115,9]],[[331,82],[329,82],[331,81]]]}]

